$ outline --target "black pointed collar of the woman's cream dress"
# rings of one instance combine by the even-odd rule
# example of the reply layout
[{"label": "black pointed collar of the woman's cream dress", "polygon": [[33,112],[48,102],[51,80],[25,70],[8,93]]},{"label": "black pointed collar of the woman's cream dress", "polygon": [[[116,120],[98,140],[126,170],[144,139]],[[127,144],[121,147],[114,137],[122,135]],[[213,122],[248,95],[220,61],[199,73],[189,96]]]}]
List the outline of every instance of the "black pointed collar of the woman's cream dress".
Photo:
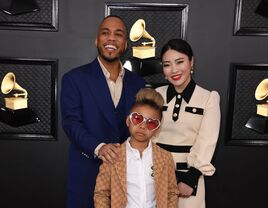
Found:
[{"label": "black pointed collar of the woman's cream dress", "polygon": [[181,94],[181,96],[183,97],[183,99],[189,103],[192,94],[194,92],[196,83],[193,79],[190,80],[189,84],[186,86],[186,88],[183,90],[182,93],[178,93],[174,87],[174,85],[169,84],[168,85],[168,89],[167,89],[167,103],[169,103],[173,97],[175,97],[178,94]]}]

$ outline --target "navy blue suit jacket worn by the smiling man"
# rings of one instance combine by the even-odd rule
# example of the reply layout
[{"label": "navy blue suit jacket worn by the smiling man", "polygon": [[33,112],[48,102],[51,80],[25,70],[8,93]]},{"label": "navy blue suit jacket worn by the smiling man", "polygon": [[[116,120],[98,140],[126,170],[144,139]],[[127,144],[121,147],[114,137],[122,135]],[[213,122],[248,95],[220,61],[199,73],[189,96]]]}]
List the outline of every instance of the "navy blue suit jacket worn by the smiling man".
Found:
[{"label": "navy blue suit jacket worn by the smiling man", "polygon": [[[141,77],[126,70],[122,92],[126,112],[129,112],[137,91],[144,85]],[[119,142],[115,107],[97,59],[63,76],[61,114],[63,129],[71,141],[68,191],[87,195],[91,204],[101,162],[94,158],[94,150],[102,142]],[[128,132],[126,126],[120,128]]]}]

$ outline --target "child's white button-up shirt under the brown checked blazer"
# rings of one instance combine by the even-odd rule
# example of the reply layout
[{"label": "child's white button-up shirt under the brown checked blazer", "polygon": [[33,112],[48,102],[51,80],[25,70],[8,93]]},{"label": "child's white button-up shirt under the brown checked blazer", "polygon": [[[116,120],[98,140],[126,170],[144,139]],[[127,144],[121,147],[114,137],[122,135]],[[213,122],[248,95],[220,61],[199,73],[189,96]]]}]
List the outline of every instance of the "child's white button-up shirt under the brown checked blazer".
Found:
[{"label": "child's white button-up shirt under the brown checked blazer", "polygon": [[142,152],[126,142],[127,206],[126,208],[155,208],[156,196],[153,178],[152,144]]}]

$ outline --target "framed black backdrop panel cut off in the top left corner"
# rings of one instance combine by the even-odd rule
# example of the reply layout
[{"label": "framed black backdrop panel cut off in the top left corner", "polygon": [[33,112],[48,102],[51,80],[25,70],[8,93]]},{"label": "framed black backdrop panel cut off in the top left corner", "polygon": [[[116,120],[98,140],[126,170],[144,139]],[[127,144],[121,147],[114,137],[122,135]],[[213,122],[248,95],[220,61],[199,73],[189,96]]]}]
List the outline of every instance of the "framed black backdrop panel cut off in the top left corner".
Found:
[{"label": "framed black backdrop panel cut off in the top left corner", "polygon": [[58,0],[0,2],[0,29],[58,31]]}]

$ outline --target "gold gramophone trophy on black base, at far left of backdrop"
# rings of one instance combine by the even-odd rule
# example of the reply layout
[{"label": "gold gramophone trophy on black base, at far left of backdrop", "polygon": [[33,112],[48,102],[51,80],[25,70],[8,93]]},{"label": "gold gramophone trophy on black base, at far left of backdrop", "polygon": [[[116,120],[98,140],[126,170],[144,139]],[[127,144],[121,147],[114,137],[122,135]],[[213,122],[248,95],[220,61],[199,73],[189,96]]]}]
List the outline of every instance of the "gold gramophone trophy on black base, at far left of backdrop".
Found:
[{"label": "gold gramophone trophy on black base, at far left of backdrop", "polygon": [[18,84],[13,72],[4,76],[1,92],[5,95],[5,107],[0,109],[1,122],[14,127],[40,122],[34,111],[28,108],[28,92]]}]

